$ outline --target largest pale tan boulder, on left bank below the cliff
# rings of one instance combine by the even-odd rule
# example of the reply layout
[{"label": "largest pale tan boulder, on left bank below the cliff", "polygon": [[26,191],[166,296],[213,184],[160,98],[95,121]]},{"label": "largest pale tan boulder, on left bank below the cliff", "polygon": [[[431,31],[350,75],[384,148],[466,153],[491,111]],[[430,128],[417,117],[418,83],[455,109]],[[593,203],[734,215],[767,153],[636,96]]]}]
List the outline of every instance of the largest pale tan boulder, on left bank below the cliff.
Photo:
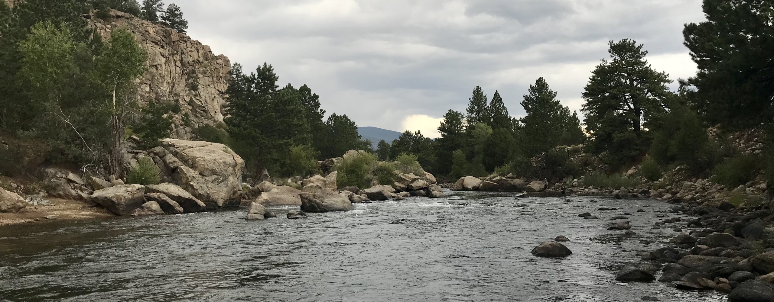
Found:
[{"label": "largest pale tan boulder, on left bank below the cliff", "polygon": [[164,139],[149,156],[159,165],[165,182],[180,185],[208,209],[222,208],[241,192],[245,161],[224,144]]}]

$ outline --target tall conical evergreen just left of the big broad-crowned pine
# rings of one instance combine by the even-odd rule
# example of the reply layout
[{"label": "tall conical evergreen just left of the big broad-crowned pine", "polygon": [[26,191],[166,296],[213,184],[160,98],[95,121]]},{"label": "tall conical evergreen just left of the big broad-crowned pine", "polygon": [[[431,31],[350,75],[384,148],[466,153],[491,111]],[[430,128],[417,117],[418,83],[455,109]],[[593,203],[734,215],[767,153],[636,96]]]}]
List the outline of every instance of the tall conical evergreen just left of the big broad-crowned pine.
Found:
[{"label": "tall conical evergreen just left of the big broad-crowned pine", "polygon": [[541,77],[535,85],[529,85],[529,94],[521,104],[527,113],[521,119],[521,147],[525,155],[530,158],[557,147],[564,131],[562,112],[566,108],[557,100],[557,92]]}]

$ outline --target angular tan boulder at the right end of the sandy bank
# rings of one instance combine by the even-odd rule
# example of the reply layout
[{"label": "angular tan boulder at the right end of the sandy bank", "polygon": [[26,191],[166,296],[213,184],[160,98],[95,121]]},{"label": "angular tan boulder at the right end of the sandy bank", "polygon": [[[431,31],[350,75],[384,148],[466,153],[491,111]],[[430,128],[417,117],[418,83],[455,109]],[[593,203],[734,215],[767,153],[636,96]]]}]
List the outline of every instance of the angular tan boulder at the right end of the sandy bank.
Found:
[{"label": "angular tan boulder at the right end of the sandy bank", "polygon": [[96,202],[116,215],[128,215],[138,209],[145,201],[145,187],[142,185],[115,185],[97,190],[91,195]]}]

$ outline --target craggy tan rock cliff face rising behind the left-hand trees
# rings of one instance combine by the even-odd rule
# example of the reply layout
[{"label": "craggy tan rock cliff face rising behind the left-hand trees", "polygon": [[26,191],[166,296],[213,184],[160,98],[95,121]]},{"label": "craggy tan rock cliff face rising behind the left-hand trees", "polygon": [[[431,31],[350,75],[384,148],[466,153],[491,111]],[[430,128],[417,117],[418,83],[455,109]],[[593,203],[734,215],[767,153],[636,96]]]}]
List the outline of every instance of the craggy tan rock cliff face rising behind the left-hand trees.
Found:
[{"label": "craggy tan rock cliff face rising behind the left-hand trees", "polygon": [[223,93],[231,70],[226,56],[215,56],[210,46],[124,12],[112,11],[107,20],[85,18],[105,38],[114,29],[128,29],[148,51],[148,71],[139,80],[140,99],[180,104],[180,114],[173,117],[173,138],[188,140],[195,128],[223,122]]}]

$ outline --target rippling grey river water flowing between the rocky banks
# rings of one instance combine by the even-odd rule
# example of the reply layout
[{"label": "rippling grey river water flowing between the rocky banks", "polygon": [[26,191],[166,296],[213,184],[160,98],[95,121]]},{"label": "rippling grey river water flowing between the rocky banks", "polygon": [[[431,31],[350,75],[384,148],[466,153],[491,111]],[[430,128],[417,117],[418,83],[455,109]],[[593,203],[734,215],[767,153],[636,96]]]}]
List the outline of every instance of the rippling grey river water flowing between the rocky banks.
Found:
[{"label": "rippling grey river water flowing between the rocky banks", "polygon": [[[279,208],[280,218],[259,222],[242,209],[3,226],[0,301],[726,300],[615,282],[636,253],[674,236],[652,229],[670,205],[566,199],[460,192],[297,220]],[[624,212],[636,236],[606,230]],[[406,220],[390,223],[398,219]],[[529,253],[558,235],[572,240],[571,256]]]}]

